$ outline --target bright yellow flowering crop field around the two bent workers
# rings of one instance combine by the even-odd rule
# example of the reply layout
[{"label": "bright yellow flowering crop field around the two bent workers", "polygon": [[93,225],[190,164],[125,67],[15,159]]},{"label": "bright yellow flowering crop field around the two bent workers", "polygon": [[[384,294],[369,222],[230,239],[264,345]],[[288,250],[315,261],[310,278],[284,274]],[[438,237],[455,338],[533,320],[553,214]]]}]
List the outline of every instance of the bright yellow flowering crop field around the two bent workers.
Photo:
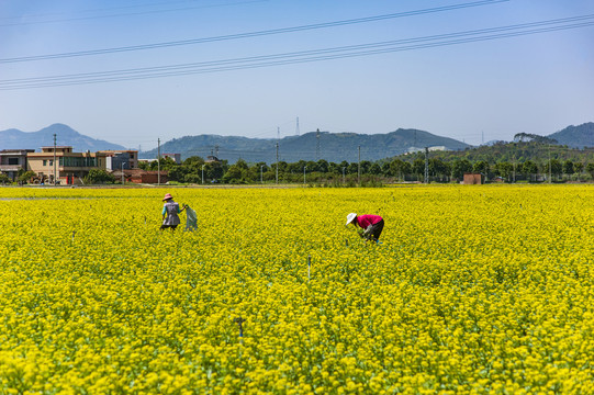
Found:
[{"label": "bright yellow flowering crop field around the two bent workers", "polygon": [[[166,192],[199,230],[159,230]],[[0,189],[0,394],[593,393],[593,203],[591,185]],[[383,245],[349,212],[382,215]]]}]

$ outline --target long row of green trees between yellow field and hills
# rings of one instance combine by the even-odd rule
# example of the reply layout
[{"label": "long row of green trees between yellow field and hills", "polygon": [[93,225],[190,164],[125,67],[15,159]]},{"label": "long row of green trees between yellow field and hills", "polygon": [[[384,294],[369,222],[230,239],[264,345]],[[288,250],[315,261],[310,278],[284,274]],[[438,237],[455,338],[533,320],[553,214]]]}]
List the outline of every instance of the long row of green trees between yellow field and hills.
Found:
[{"label": "long row of green trees between yellow field and hills", "polygon": [[[503,182],[538,182],[549,180],[594,180],[594,161],[582,162],[570,159],[525,160],[524,162],[486,160],[471,161],[464,157],[445,160],[430,157],[427,160],[428,176],[432,182],[457,182],[463,179],[467,172],[483,174],[486,181]],[[146,170],[157,170],[157,161],[141,165]],[[169,181],[180,183],[271,183],[278,179],[279,183],[324,183],[324,184],[354,184],[374,182],[406,182],[424,181],[424,155],[404,156],[380,161],[361,160],[348,162],[346,160],[328,162],[325,159],[317,161],[299,160],[296,162],[279,161],[266,163],[264,161],[248,163],[239,159],[229,165],[223,161],[204,161],[194,156],[176,163],[171,158],[160,159],[160,169],[168,171]]]}]

